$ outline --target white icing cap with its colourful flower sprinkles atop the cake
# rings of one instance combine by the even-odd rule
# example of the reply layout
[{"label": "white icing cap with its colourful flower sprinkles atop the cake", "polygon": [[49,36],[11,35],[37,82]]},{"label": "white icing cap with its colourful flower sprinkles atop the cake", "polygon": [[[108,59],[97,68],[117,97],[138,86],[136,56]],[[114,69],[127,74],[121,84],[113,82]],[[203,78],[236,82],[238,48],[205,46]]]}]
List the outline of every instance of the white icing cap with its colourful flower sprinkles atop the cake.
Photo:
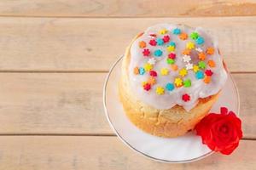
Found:
[{"label": "white icing cap with its colourful flower sprinkles atop the cake", "polygon": [[200,27],[160,24],[131,44],[131,90],[154,108],[182,105],[190,111],[199,98],[217,94],[226,79],[218,43]]}]

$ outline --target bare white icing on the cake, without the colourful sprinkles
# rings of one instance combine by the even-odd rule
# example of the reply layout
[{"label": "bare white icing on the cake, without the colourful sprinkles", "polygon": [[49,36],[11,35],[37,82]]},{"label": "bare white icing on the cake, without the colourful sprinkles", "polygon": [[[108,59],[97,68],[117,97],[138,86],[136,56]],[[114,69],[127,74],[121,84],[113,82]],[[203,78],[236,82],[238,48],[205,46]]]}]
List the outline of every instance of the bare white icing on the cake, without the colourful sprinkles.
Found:
[{"label": "bare white icing on the cake, without the colourful sprinkles", "polygon": [[[179,28],[182,32],[188,34],[188,38],[186,40],[181,40],[178,35],[172,33],[175,28]],[[162,29],[166,29],[167,32],[164,35],[161,35],[159,32]],[[203,37],[205,42],[201,45],[198,45],[195,40],[192,40],[189,35],[191,32],[198,32],[200,37]],[[150,37],[150,34],[156,34],[157,37],[164,37],[165,35],[169,35],[171,37],[169,42],[175,42],[176,48],[174,53],[176,54],[175,65],[177,65],[178,70],[172,71],[171,65],[167,64],[166,59],[167,55],[170,54],[166,50],[168,42],[164,43],[164,45],[159,46],[151,46],[148,42],[154,37]],[[139,47],[139,42],[144,41],[147,44],[147,47],[151,52],[149,56],[143,56],[143,49]],[[195,48],[191,50],[191,60],[189,63],[196,65],[200,59],[198,59],[198,53],[206,52],[208,47],[214,48],[214,54],[207,54],[206,59],[204,60],[207,64],[209,59],[212,59],[215,62],[215,67],[211,68],[207,65],[206,69],[201,69],[201,71],[206,71],[210,69],[213,74],[211,77],[210,83],[205,83],[203,79],[197,79],[195,77],[195,71],[193,69],[188,70],[188,74],[185,77],[181,77],[179,75],[179,71],[182,68],[186,68],[187,62],[183,61],[183,49],[186,48],[187,42],[194,42]],[[154,56],[154,50],[160,49],[163,54],[160,57]],[[156,60],[153,65],[154,71],[157,71],[156,83],[151,86],[151,89],[146,91],[143,89],[143,82],[147,82],[149,76],[149,71],[146,71],[143,75],[134,74],[135,67],[143,67],[144,64],[149,62],[154,63],[154,58]],[[191,65],[187,65],[190,67]],[[160,69],[167,68],[169,70],[169,74],[167,76],[160,75]],[[174,90],[168,91],[166,89],[166,83],[172,82],[174,83],[174,79],[176,77],[180,77],[183,80],[190,79],[191,86],[189,88],[184,88],[183,86],[180,88],[175,87]],[[174,105],[182,105],[186,111],[190,111],[198,102],[199,98],[206,98],[211,96],[212,94],[217,94],[219,90],[224,86],[224,83],[227,79],[227,73],[224,70],[223,59],[218,54],[218,42],[214,40],[207,31],[204,31],[202,28],[191,28],[188,26],[177,26],[170,24],[160,24],[156,26],[149,27],[146,31],[144,31],[141,37],[138,37],[136,41],[131,44],[131,61],[129,65],[129,82],[131,85],[131,90],[134,92],[134,95],[137,96],[137,99],[140,99],[144,103],[153,106],[156,109],[170,109]],[[165,88],[165,94],[156,94],[155,89],[157,87]],[[184,101],[182,96],[183,94],[189,94],[189,101]]]}]

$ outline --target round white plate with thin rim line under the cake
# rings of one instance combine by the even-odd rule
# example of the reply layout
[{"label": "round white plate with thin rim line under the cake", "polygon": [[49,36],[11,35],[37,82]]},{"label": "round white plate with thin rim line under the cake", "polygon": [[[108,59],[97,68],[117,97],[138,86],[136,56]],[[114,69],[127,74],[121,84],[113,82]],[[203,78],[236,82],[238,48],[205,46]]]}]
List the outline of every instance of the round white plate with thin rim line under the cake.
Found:
[{"label": "round white plate with thin rim line under the cake", "polygon": [[[120,57],[109,71],[103,88],[103,104],[108,122],[113,131],[132,150],[156,161],[188,162],[199,160],[212,154],[207,145],[201,143],[201,137],[195,132],[181,137],[166,139],[144,133],[135,127],[125,116],[122,104],[119,101],[118,83],[121,75]],[[219,108],[225,106],[229,110],[239,112],[239,95],[235,82],[228,77],[218,101],[210,112],[219,113]]]}]

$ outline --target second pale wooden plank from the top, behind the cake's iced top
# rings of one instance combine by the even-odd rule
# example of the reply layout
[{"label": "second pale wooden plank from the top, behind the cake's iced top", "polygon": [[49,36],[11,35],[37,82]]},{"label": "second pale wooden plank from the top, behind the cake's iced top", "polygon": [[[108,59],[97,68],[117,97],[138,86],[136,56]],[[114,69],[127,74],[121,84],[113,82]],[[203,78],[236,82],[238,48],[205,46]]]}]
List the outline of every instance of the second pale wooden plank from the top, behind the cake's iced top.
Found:
[{"label": "second pale wooden plank from the top, behind the cake's iced top", "polygon": [[256,17],[1,18],[0,71],[108,71],[132,37],[161,22],[206,27],[231,71],[256,71]]}]

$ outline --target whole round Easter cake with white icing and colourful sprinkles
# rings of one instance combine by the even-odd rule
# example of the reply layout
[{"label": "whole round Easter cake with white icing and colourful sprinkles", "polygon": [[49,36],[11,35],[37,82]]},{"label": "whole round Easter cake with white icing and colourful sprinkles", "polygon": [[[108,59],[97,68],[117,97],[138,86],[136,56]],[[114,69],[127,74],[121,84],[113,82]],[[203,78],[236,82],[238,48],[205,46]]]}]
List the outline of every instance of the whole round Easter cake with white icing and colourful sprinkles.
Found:
[{"label": "whole round Easter cake with white icing and colourful sprinkles", "polygon": [[119,96],[144,132],[171,138],[208,114],[227,79],[218,42],[201,27],[160,24],[135,37],[122,61]]}]

